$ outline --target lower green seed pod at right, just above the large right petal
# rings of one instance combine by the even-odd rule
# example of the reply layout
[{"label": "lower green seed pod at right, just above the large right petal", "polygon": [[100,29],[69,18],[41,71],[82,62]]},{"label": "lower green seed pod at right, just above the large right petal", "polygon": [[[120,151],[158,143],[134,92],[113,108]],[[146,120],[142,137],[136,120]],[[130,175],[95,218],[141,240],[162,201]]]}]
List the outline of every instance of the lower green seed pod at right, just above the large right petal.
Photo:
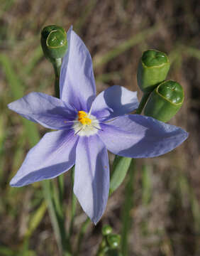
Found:
[{"label": "lower green seed pod at right, just above the large right petal", "polygon": [[182,107],[184,90],[178,82],[161,82],[151,93],[144,114],[162,122],[168,122]]}]

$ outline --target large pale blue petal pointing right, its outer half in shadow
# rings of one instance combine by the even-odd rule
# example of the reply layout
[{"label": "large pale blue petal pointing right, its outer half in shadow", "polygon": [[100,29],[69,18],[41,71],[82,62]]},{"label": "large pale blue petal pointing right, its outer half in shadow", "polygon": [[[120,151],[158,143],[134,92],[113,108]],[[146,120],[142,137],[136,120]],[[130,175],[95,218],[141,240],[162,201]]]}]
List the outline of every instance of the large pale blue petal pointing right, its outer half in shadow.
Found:
[{"label": "large pale blue petal pointing right, its outer half in shadow", "polygon": [[132,158],[160,156],[188,137],[179,127],[140,114],[116,117],[101,129],[99,137],[109,151]]}]

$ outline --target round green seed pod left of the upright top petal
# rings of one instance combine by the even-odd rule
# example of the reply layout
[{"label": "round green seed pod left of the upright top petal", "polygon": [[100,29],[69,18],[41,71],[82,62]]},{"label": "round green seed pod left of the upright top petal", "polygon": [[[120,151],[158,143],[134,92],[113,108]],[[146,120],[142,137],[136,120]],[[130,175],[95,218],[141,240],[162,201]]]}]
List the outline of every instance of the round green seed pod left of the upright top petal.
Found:
[{"label": "round green seed pod left of the upright top petal", "polygon": [[50,25],[41,32],[41,46],[46,58],[62,58],[67,50],[67,34],[61,26]]}]

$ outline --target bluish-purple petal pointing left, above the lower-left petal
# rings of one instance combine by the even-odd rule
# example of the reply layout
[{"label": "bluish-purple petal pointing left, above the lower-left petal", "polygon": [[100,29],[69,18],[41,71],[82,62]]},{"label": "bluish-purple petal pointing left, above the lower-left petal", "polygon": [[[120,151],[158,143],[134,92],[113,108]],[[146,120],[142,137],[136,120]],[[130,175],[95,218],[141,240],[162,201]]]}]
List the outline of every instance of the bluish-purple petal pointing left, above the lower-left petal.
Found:
[{"label": "bluish-purple petal pointing left, above the lower-left petal", "polygon": [[75,117],[74,110],[70,110],[65,102],[41,92],[31,92],[11,102],[8,107],[22,117],[50,129],[64,129],[65,122]]}]

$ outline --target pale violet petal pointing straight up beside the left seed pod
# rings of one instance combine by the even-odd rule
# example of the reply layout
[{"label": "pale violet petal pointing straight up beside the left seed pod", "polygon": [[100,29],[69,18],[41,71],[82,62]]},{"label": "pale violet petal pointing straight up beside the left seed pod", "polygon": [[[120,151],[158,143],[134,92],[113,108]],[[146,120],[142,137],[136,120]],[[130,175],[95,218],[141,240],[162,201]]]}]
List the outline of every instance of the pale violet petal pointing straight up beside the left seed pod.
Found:
[{"label": "pale violet petal pointing straight up beside the left seed pod", "polygon": [[60,73],[60,99],[88,112],[96,95],[91,56],[72,27],[67,32],[67,43]]}]

